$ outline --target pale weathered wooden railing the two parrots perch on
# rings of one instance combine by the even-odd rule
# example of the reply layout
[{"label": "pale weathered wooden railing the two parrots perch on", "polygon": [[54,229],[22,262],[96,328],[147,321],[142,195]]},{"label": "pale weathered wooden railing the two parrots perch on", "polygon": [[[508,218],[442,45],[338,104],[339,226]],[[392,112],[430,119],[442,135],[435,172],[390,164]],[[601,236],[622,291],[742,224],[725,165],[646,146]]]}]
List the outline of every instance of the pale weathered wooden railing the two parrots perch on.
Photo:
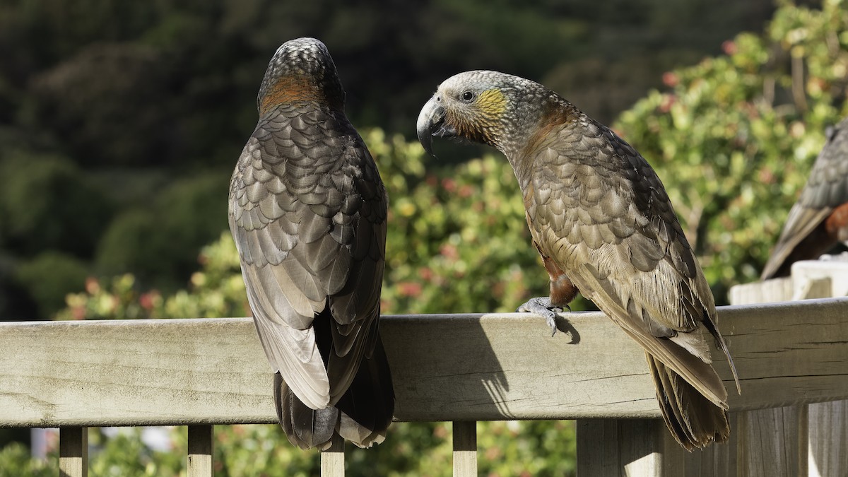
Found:
[{"label": "pale weathered wooden railing the two parrots perch on", "polygon": [[[461,476],[477,475],[478,420],[577,419],[581,477],[753,475],[767,451],[806,456],[808,437],[828,425],[842,436],[835,452],[845,450],[844,416],[805,427],[795,449],[765,450],[747,415],[848,399],[848,299],[720,307],[742,394],[730,392],[728,445],[693,453],[662,423],[633,340],[600,312],[565,313],[558,325],[551,338],[527,314],[383,317],[395,418],[454,421]],[[713,357],[734,390],[722,354]],[[89,426],[188,425],[188,474],[209,476],[214,424],[274,422],[271,373],[248,318],[0,324],[0,426],[59,427],[62,475],[86,475]],[[343,475],[343,446],[321,461],[322,474]]]}]

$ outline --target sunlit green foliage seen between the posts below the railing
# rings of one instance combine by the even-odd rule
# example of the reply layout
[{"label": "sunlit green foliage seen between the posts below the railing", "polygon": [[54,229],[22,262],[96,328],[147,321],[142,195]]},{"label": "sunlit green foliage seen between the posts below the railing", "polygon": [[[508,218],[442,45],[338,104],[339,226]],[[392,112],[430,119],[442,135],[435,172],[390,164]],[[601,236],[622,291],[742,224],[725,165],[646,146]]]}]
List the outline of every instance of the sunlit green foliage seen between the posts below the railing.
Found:
[{"label": "sunlit green foliage seen between the posts below the railing", "polygon": [[[349,477],[449,477],[452,474],[450,423],[395,423],[379,446],[345,447]],[[170,428],[170,450],[142,443],[141,428],[124,428],[114,437],[89,429],[88,474],[185,476],[187,429]],[[490,477],[575,474],[576,441],[571,421],[496,421],[477,423],[478,469]],[[215,475],[218,477],[308,477],[319,474],[319,452],[300,451],[288,444],[278,425],[237,424],[215,427]],[[41,477],[59,474],[58,452],[46,461],[32,459],[25,446],[0,449],[0,477]]]}]

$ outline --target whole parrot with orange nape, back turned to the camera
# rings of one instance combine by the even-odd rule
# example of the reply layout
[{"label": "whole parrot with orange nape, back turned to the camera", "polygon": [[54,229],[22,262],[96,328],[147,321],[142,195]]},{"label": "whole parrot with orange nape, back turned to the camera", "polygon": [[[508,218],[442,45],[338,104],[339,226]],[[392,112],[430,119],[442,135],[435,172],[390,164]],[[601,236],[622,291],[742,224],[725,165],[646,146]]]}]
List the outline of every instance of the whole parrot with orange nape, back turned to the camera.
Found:
[{"label": "whole parrot with orange nape, back turned to the camera", "polygon": [[257,105],[229,223],[277,417],[302,449],[326,449],[336,433],[371,446],[394,409],[378,330],[386,190],[322,42],[278,48]]}]

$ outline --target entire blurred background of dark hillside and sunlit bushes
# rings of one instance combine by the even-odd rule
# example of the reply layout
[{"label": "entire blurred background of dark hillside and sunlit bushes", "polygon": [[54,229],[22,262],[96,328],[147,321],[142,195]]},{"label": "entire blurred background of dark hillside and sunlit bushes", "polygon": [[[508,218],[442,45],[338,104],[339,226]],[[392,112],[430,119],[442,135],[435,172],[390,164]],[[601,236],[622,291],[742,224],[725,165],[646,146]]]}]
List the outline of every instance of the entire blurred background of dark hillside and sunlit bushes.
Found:
[{"label": "entire blurred background of dark hillside and sunlit bushes", "polygon": [[[471,69],[540,81],[639,149],[726,303],[758,276],[825,126],[848,113],[846,11],[841,0],[0,1],[0,319],[247,316],[227,184],[265,66],[298,36],[330,49],[391,196],[384,312],[510,311],[546,292],[506,161],[447,142],[435,160],[416,143],[421,105]],[[571,423],[478,426],[485,474],[574,472]],[[185,429],[164,450],[138,432],[92,429],[92,475],[185,472]],[[376,450],[349,452],[349,474],[449,475],[449,435],[397,424]],[[220,475],[317,469],[274,426],[216,436]],[[56,474],[55,459],[29,457],[28,437],[0,431],[0,475]]]}]

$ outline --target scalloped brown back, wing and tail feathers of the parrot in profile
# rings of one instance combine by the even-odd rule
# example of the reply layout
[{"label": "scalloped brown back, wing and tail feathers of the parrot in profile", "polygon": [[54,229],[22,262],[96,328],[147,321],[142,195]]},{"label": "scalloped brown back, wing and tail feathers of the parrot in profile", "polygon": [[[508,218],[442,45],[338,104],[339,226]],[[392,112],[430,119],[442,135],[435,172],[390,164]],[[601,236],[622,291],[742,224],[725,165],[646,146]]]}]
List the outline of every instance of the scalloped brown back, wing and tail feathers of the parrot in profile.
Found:
[{"label": "scalloped brown back, wing and tail feathers of the parrot in profile", "polygon": [[705,328],[716,330],[732,360],[717,334],[711,290],[659,177],[628,143],[584,116],[546,129],[535,149],[516,158],[533,164],[524,194],[534,242],[644,347],[681,445],[726,440],[727,390],[711,367]]}]

